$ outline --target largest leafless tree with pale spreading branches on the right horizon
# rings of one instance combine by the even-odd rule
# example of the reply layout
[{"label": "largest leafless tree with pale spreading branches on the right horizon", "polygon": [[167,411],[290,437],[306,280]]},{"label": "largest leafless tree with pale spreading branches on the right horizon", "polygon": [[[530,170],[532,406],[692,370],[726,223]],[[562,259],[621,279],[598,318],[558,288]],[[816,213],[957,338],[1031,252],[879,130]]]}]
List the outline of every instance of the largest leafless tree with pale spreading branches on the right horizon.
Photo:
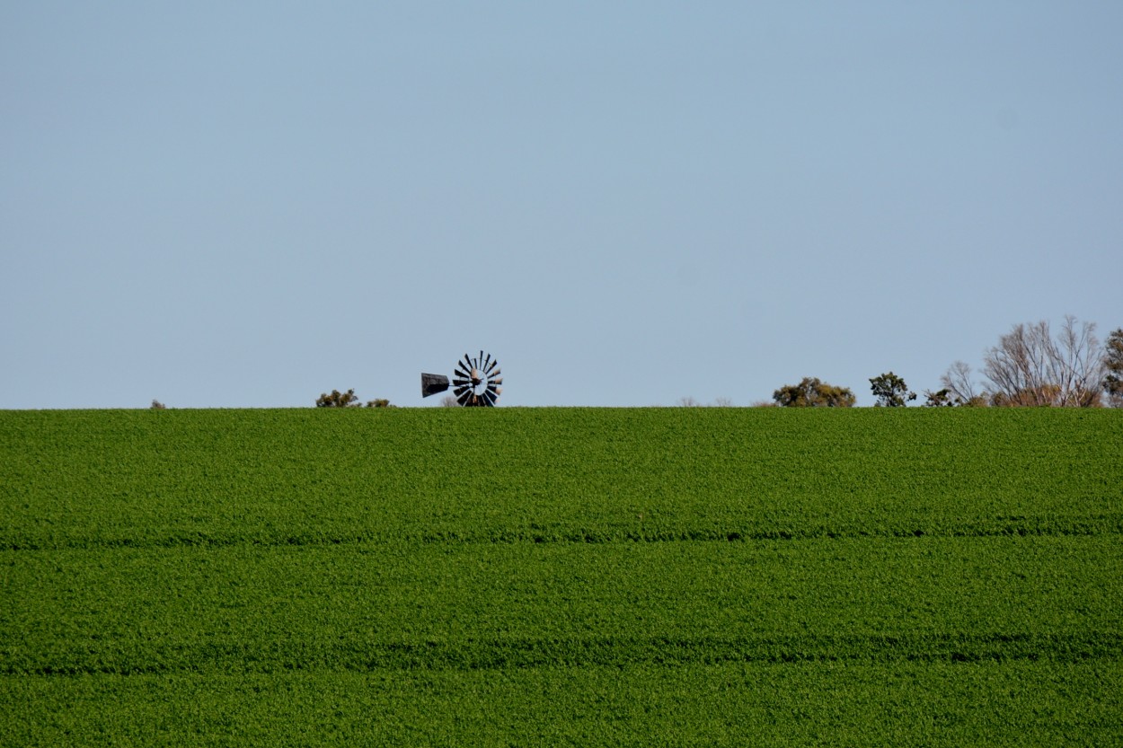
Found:
[{"label": "largest leafless tree with pale spreading branches on the right horizon", "polygon": [[1015,325],[983,357],[983,374],[993,385],[990,401],[996,405],[1098,405],[1104,365],[1095,329],[1094,322],[1083,322],[1077,329],[1071,314],[1056,339],[1046,320]]}]

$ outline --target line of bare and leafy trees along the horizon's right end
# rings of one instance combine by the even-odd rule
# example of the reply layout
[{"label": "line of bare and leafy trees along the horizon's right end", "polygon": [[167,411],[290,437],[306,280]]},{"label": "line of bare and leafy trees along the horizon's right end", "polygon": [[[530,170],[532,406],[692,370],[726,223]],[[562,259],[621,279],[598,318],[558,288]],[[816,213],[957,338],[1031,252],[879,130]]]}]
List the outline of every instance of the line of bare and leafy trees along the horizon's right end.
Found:
[{"label": "line of bare and leafy trees along the horizon's right end", "polygon": [[[1053,335],[1048,321],[1015,325],[983,355],[982,380],[969,364],[955,362],[942,387],[924,391],[924,405],[1123,408],[1123,328],[1101,344],[1095,322],[1065,318]],[[916,400],[905,381],[887,372],[869,380],[876,407],[898,408]],[[785,408],[850,408],[849,387],[815,377],[782,386],[773,403]]]}]

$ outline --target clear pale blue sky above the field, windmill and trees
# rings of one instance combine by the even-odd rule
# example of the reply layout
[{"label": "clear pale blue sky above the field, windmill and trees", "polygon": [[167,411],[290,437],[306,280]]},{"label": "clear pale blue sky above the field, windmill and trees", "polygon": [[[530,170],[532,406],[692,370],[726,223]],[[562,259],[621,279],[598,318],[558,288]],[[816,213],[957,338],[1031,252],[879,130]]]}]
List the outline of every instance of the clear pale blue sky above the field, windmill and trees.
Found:
[{"label": "clear pale blue sky above the field, windmill and trees", "polygon": [[[1123,327],[1123,3],[0,0],[0,409],[749,405]],[[921,398],[923,400],[923,398]]]}]

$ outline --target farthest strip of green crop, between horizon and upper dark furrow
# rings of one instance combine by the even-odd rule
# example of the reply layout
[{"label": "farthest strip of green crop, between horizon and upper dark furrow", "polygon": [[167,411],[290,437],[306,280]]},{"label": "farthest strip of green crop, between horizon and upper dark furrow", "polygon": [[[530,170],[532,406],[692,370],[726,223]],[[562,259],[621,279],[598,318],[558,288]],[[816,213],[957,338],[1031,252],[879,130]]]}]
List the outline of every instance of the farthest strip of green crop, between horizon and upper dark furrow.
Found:
[{"label": "farthest strip of green crop, between horizon and upper dark furrow", "polygon": [[1117,535],[1119,416],[9,411],[0,548]]}]

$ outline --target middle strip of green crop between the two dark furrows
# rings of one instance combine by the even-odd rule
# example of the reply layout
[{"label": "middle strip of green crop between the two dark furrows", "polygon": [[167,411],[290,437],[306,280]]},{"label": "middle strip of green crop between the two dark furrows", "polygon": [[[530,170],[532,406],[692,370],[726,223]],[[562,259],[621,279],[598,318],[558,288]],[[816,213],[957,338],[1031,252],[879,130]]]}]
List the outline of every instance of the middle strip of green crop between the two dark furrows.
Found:
[{"label": "middle strip of green crop between the two dark furrows", "polygon": [[8,551],[0,672],[1119,657],[1117,538]]}]

